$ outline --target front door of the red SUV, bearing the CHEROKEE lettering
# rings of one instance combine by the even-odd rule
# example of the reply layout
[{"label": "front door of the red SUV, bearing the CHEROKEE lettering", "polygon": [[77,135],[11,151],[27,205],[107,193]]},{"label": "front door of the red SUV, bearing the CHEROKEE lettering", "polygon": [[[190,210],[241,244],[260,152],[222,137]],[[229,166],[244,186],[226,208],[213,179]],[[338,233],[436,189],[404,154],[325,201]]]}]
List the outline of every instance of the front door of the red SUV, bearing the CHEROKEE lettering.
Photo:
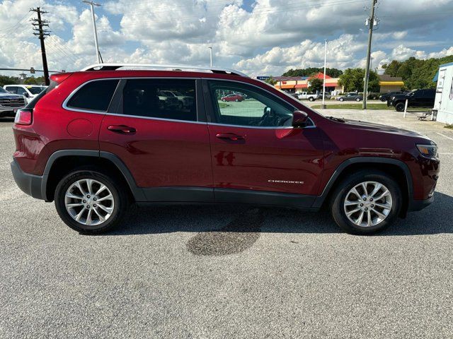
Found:
[{"label": "front door of the red SUV, bearing the CHEROKEE lettering", "polygon": [[[205,81],[203,90],[216,201],[273,204],[281,194],[316,194],[323,142],[312,121],[293,129],[295,108],[255,85]],[[222,102],[224,90],[245,93],[247,99]]]}]

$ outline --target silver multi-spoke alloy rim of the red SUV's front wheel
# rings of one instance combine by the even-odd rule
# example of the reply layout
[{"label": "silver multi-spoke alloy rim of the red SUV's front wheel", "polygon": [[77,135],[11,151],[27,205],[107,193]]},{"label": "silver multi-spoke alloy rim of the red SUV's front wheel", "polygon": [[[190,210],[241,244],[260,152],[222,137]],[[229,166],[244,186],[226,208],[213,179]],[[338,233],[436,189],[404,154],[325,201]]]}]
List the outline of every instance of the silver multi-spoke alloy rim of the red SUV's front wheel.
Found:
[{"label": "silver multi-spoke alloy rim of the red SUV's front wheel", "polygon": [[343,203],[348,219],[360,227],[384,221],[393,206],[389,189],[379,182],[361,182],[346,194]]}]

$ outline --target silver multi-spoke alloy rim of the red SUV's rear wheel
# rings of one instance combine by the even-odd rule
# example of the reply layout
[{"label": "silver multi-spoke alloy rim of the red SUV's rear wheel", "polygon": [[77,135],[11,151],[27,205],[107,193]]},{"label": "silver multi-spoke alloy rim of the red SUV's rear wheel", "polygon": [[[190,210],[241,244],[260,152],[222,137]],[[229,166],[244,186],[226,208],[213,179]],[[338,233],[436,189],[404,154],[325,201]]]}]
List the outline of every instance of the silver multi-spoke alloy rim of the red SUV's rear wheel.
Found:
[{"label": "silver multi-spoke alloy rim of the red SUV's rear wheel", "polygon": [[115,200],[105,184],[94,179],[80,179],[67,189],[64,206],[76,222],[96,226],[110,218]]}]

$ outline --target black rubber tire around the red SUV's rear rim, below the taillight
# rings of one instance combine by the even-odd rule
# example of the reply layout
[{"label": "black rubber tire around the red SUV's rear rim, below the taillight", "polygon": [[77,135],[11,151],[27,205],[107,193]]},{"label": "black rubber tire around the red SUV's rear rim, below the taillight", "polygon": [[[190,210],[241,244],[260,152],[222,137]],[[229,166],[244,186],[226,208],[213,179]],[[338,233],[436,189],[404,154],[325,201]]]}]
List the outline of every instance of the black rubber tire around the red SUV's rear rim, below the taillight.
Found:
[{"label": "black rubber tire around the red SUV's rear rim, below the taillight", "polygon": [[[87,226],[77,222],[69,215],[64,204],[64,197],[67,189],[71,184],[80,179],[95,179],[107,186],[113,195],[115,202],[113,212],[107,220],[101,222],[99,225]],[[83,234],[101,234],[112,230],[115,226],[120,224],[128,206],[129,200],[125,187],[123,187],[120,182],[117,182],[117,180],[113,180],[113,178],[101,172],[97,172],[96,169],[79,169],[75,172],[71,172],[59,182],[55,189],[55,208],[57,208],[59,217],[62,218],[64,223],[71,227],[71,229]]]}]

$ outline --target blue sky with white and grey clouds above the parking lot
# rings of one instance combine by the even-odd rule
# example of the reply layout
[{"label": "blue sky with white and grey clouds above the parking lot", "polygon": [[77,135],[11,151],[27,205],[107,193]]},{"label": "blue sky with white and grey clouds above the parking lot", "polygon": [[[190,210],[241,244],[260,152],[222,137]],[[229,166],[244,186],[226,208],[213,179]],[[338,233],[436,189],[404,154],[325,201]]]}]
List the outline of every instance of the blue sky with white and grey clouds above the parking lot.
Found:
[{"label": "blue sky with white and grey clouds above the parking lot", "polygon": [[[104,62],[185,64],[279,76],[288,69],[365,66],[370,0],[98,0]],[[79,0],[1,0],[0,68],[42,69],[30,8],[47,11],[49,69],[96,64],[89,6]],[[453,0],[379,0],[372,69],[453,54]],[[4,71],[1,73],[6,74]],[[20,72],[10,72],[16,75]]]}]

